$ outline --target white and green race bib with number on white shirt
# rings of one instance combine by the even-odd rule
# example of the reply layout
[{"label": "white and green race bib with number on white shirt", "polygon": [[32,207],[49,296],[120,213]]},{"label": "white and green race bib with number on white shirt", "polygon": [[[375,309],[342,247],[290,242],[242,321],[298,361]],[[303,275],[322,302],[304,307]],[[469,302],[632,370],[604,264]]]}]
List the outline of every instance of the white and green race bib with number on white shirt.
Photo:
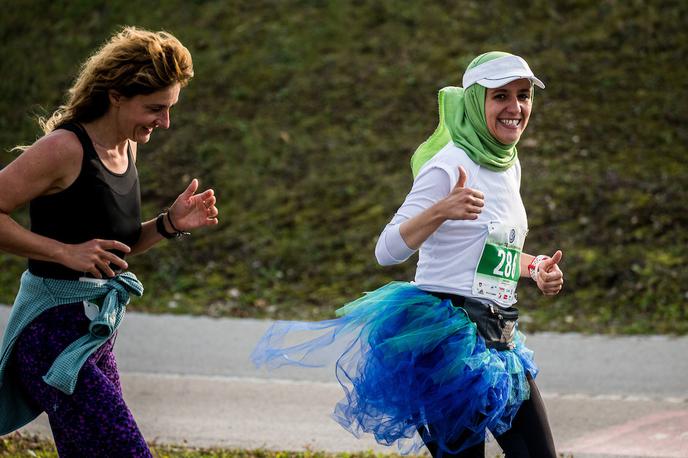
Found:
[{"label": "white and green race bib with number on white shirt", "polygon": [[480,261],[473,276],[473,295],[511,305],[521,276],[521,252],[528,231],[490,222]]}]

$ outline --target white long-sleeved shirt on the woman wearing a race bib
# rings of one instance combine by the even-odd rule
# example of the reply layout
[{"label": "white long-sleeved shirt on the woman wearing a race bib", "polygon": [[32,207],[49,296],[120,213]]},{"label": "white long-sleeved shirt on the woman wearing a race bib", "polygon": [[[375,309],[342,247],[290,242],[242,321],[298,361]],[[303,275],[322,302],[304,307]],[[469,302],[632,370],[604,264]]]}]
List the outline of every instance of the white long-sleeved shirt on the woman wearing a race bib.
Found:
[{"label": "white long-sleeved shirt on the woman wearing a race bib", "polygon": [[447,220],[423,242],[414,283],[425,291],[476,297],[472,294],[473,278],[488,224],[506,223],[524,234],[528,230],[518,161],[506,171],[494,172],[473,162],[452,142],[447,143],[418,173],[404,203],[380,234],[375,256],[381,265],[392,265],[415,252],[404,242],[399,227],[449,194],[459,179],[459,166],[468,174],[466,187],[485,195],[485,206],[478,219]]}]

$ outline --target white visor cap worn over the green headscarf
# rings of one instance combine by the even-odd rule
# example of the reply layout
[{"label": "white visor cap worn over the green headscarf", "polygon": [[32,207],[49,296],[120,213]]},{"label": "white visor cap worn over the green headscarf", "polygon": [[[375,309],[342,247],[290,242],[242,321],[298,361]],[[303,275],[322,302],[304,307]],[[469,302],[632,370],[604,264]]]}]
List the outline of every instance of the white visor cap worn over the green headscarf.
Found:
[{"label": "white visor cap worn over the green headscarf", "polygon": [[543,82],[533,75],[528,63],[518,56],[498,57],[467,70],[463,74],[463,88],[475,83],[487,88],[502,87],[521,78],[528,78],[540,89],[545,88]]}]

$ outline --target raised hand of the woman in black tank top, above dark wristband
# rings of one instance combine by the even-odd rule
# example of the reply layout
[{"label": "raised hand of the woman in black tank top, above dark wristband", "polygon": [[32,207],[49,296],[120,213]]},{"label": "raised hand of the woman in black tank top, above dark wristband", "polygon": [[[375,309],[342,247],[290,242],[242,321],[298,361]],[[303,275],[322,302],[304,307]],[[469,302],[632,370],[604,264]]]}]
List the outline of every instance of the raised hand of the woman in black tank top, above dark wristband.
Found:
[{"label": "raised hand of the woman in black tank top, above dark wristband", "polygon": [[215,206],[215,191],[208,189],[196,194],[197,190],[198,180],[194,178],[169,209],[168,216],[179,231],[217,224],[219,211]]}]

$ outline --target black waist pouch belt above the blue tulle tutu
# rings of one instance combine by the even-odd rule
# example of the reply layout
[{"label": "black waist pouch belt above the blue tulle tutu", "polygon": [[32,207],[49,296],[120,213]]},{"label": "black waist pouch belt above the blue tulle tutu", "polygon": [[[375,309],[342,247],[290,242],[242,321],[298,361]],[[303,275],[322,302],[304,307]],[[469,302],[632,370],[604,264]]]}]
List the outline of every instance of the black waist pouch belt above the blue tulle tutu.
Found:
[{"label": "black waist pouch belt above the blue tulle tutu", "polygon": [[488,348],[496,350],[513,350],[515,348],[516,322],[518,309],[501,308],[492,304],[483,304],[475,299],[468,299],[456,294],[430,293],[440,299],[449,299],[454,307],[462,308],[468,318],[475,323],[478,333],[485,339]]}]

